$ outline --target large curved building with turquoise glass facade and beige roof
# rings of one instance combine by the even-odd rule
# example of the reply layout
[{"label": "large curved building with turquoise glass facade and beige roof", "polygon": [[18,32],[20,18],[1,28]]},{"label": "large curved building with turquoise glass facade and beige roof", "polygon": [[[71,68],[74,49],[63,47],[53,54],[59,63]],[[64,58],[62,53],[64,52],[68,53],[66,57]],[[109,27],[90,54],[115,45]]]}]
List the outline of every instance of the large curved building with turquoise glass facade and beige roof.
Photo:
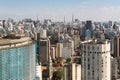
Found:
[{"label": "large curved building with turquoise glass facade and beige roof", "polygon": [[0,40],[0,80],[34,80],[35,53],[30,38]]}]

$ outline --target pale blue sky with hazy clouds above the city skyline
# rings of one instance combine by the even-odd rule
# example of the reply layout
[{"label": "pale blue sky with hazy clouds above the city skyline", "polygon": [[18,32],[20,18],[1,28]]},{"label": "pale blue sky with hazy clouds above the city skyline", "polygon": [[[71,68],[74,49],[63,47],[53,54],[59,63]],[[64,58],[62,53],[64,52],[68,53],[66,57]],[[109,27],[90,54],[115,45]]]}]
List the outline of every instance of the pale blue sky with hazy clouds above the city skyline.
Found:
[{"label": "pale blue sky with hazy clouds above the city skyline", "polygon": [[0,19],[119,21],[120,0],[0,0]]}]

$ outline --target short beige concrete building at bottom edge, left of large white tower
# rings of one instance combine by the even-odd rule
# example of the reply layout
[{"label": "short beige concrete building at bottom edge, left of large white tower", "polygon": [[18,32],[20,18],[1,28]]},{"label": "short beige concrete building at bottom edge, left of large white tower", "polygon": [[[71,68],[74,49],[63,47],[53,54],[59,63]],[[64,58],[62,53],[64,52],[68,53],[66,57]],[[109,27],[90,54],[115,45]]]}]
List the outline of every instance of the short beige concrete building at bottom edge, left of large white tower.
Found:
[{"label": "short beige concrete building at bottom edge, left of large white tower", "polygon": [[81,80],[81,65],[76,63],[65,65],[63,80]]}]

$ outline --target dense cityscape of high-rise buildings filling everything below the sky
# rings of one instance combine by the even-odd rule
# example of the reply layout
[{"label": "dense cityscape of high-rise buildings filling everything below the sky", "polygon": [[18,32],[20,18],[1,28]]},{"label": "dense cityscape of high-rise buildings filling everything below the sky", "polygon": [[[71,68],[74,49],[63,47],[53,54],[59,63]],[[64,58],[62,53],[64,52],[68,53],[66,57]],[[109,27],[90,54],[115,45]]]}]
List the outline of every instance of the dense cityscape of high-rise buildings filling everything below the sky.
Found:
[{"label": "dense cityscape of high-rise buildings filling everything below the sky", "polygon": [[0,20],[0,80],[119,80],[120,22]]}]

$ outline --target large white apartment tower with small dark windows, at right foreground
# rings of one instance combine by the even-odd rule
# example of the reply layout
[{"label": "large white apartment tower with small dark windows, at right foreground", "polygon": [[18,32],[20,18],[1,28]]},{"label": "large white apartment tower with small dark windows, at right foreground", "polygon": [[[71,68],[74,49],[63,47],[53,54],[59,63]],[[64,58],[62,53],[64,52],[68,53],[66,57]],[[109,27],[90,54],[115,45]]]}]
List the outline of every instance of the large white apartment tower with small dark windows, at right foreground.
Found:
[{"label": "large white apartment tower with small dark windows, at right foreground", "polygon": [[82,44],[82,80],[111,80],[110,42]]}]

